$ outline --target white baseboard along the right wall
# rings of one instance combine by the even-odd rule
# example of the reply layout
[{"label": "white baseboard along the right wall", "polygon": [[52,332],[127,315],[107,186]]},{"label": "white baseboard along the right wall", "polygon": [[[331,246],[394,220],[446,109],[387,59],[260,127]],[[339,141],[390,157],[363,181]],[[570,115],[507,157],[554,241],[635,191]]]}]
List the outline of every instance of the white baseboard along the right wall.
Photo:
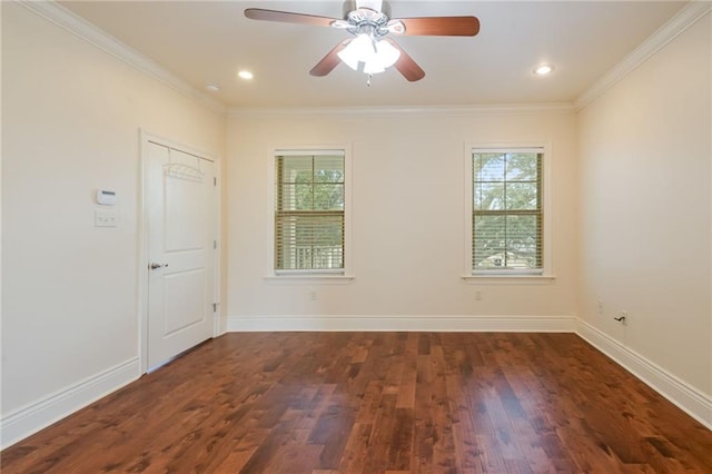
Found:
[{"label": "white baseboard along the right wall", "polygon": [[690,386],[586,322],[577,319],[576,334],[611,357],[631,374],[635,375],[655,392],[668,398],[688,415],[702,423],[709,429],[712,429],[712,397]]}]

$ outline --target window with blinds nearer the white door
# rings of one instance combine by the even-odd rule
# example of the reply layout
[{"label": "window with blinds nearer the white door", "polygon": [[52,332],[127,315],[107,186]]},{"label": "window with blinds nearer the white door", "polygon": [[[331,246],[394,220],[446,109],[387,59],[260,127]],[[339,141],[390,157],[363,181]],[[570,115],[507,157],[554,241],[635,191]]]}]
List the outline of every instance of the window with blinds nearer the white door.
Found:
[{"label": "window with blinds nearer the white door", "polygon": [[344,274],[344,151],[277,151],[275,177],[275,271]]}]

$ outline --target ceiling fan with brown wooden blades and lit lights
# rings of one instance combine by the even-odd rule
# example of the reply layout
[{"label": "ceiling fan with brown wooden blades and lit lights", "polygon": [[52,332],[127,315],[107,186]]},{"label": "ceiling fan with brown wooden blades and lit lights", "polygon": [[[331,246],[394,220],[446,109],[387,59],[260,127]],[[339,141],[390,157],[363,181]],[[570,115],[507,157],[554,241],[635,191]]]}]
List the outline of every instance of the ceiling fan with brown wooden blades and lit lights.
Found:
[{"label": "ceiling fan with brown wooden blades and lit lights", "polygon": [[248,8],[245,16],[253,20],[339,28],[349,32],[353,38],[336,45],[312,68],[309,73],[317,77],[328,75],[343,61],[354,70],[363,65],[363,71],[369,77],[395,66],[408,81],[421,80],[425,71],[392,36],[474,37],[479,32],[476,17],[390,19],[388,3],[384,0],[347,0],[344,10],[343,20],[261,8]]}]

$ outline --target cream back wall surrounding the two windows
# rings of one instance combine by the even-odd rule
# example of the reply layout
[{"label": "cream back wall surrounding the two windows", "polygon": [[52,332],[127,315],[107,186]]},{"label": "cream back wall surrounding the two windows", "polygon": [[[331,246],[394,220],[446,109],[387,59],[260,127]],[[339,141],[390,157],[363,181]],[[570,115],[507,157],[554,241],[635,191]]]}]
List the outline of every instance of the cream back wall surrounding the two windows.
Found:
[{"label": "cream back wall surrounding the two windows", "polygon": [[[447,330],[476,328],[467,323],[476,316],[572,318],[576,307],[574,140],[573,112],[553,108],[234,113],[227,146],[228,327]],[[551,284],[481,286],[461,278],[464,147],[502,141],[552,146],[554,204],[548,217],[556,278]],[[356,278],[323,286],[268,280],[270,147],[334,144],[349,145],[353,152]],[[479,302],[474,296],[477,289]],[[316,302],[310,300],[313,290]],[[456,316],[461,325],[453,326],[443,316]],[[517,327],[525,329],[527,323]]]}]

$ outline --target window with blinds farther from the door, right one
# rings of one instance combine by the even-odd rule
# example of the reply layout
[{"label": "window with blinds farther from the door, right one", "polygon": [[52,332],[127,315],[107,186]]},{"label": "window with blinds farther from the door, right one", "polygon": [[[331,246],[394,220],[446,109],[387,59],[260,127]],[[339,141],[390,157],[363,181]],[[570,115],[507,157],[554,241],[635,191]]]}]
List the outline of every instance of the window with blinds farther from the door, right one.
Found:
[{"label": "window with blinds farther from the door, right one", "polygon": [[535,149],[472,150],[472,274],[544,270],[542,168]]}]

